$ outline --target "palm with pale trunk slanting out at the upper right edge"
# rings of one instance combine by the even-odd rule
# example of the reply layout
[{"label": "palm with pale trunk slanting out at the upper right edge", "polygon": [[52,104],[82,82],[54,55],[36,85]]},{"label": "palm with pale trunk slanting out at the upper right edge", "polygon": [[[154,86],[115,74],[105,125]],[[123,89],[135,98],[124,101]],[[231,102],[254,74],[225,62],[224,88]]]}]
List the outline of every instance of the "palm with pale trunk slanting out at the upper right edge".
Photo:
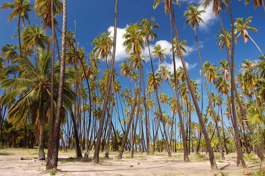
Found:
[{"label": "palm with pale trunk slanting out at the upper right edge", "polygon": [[249,26],[249,23],[252,21],[251,20],[252,18],[253,17],[251,16],[248,17],[245,22],[243,22],[243,18],[236,18],[237,21],[234,23],[234,26],[236,27],[234,29],[234,34],[239,32],[238,36],[236,37],[236,41],[238,40],[239,36],[243,36],[245,43],[247,43],[248,38],[250,38],[252,42],[257,46],[258,50],[261,52],[263,58],[265,59],[263,52],[260,50],[258,45],[254,42],[254,40],[249,36],[248,31],[247,31],[247,30],[254,31],[254,32],[258,31],[256,28]]}]

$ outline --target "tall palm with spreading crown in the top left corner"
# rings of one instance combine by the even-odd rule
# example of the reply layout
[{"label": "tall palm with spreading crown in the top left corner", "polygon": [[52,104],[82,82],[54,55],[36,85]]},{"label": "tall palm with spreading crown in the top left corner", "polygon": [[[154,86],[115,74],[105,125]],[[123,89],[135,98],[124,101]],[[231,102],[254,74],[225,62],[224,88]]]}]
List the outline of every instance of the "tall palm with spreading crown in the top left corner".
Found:
[{"label": "tall palm with spreading crown in the top left corner", "polygon": [[22,55],[21,52],[21,41],[20,41],[20,20],[22,20],[22,27],[24,27],[25,22],[24,20],[26,19],[29,22],[29,15],[28,12],[32,12],[32,4],[28,4],[30,0],[13,0],[14,2],[6,2],[3,3],[0,9],[14,9],[11,14],[9,15],[7,22],[10,22],[12,19],[17,17],[18,15],[18,22],[17,22],[17,27],[18,27],[18,42],[19,42],[19,53]]}]

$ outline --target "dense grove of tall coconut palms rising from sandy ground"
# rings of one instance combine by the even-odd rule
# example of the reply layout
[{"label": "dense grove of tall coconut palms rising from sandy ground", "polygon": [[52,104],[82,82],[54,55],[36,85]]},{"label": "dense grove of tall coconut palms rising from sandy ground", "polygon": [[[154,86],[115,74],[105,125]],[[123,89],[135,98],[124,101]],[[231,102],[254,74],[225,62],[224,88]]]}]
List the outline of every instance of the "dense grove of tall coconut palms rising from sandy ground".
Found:
[{"label": "dense grove of tall coconut palms rising from sandy ground", "polygon": [[[166,151],[169,157],[181,151],[186,162],[191,152],[205,152],[212,169],[217,169],[214,152],[222,159],[224,153],[236,152],[241,167],[246,167],[243,153],[255,152],[264,166],[265,57],[248,34],[257,29],[251,26],[252,17],[234,19],[231,1],[206,0],[202,6],[209,8],[210,3],[222,26],[216,44],[227,54],[218,63],[205,61],[200,55],[197,31],[205,10],[199,10],[200,4],[190,5],[183,15],[185,24],[195,32],[201,85],[190,79],[187,70],[183,56],[187,41],[180,41],[177,30],[176,0],[155,0],[153,4],[153,8],[164,5],[170,20],[173,73],[161,65],[167,59],[166,48],[157,45],[150,49],[150,42],[158,37],[159,25],[154,18],[143,18],[126,28],[123,46],[130,56],[121,63],[120,73],[114,68],[118,0],[113,37],[110,32],[99,34],[89,53],[77,45],[76,27],[74,31],[67,29],[66,0],[35,0],[34,5],[29,0],[3,3],[1,10],[12,10],[7,22],[17,20],[17,33],[12,37],[18,43],[1,48],[2,146],[38,146],[39,159],[47,157],[46,169],[57,167],[58,150],[62,149],[75,149],[77,157],[93,149],[94,163],[99,162],[100,152],[108,157],[109,150],[118,151],[117,159],[122,159],[124,150],[131,151],[131,157],[137,150],[147,155]],[[255,8],[262,5],[264,8],[263,0],[254,0]],[[230,15],[229,29],[223,25],[221,11]],[[30,13],[41,23],[31,24]],[[59,24],[56,19],[61,17]],[[52,35],[47,36],[46,31]],[[254,44],[260,54],[257,63],[243,60],[240,70],[234,66],[238,40]],[[145,47],[147,56],[143,55]],[[175,58],[181,60],[182,67],[176,68]],[[152,72],[144,77],[147,60]],[[154,62],[159,63],[157,71]],[[106,64],[105,70],[99,64]],[[128,87],[121,86],[119,75],[128,80]],[[172,95],[163,93],[162,87],[170,89]],[[199,87],[207,92],[206,105]],[[198,123],[192,120],[193,113]],[[44,148],[48,148],[47,156]]]}]

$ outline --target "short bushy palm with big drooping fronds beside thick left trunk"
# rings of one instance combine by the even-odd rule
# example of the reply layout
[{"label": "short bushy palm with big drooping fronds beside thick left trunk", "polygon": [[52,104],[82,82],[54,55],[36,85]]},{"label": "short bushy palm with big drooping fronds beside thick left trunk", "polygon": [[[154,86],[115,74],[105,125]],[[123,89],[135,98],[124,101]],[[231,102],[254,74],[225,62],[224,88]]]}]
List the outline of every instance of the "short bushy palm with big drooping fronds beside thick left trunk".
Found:
[{"label": "short bushy palm with big drooping fronds beside thick left trunk", "polygon": [[[6,79],[2,82],[3,87],[14,90],[1,97],[3,104],[15,100],[18,95],[20,98],[8,110],[9,120],[14,125],[24,125],[27,121],[34,122],[39,131],[39,159],[45,159],[43,145],[43,126],[49,117],[50,112],[50,68],[51,52],[38,50],[38,59],[34,66],[29,58],[18,58],[19,66],[11,66],[8,71],[15,70],[19,73],[19,78]],[[66,73],[68,76],[69,74]],[[73,74],[73,73],[71,73]],[[56,76],[58,78],[58,69]],[[58,81],[57,87],[58,87]],[[68,85],[69,86],[69,85]],[[65,90],[68,99],[73,97],[69,87]],[[64,97],[64,99],[66,99]],[[64,116],[64,115],[63,115]]]}]

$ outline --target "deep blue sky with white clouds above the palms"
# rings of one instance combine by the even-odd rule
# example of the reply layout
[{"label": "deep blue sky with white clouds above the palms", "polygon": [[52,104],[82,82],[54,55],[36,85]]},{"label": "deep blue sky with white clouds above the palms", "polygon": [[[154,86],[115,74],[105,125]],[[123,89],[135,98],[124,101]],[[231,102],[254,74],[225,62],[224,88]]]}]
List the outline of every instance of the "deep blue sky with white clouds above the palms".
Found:
[{"label": "deep blue sky with white clouds above the palms", "polygon": [[[11,2],[11,0],[1,0],[3,2]],[[117,38],[117,52],[115,58],[115,68],[118,69],[123,60],[128,59],[128,55],[125,53],[122,45],[122,38],[119,37],[125,31],[125,28],[130,23],[135,23],[141,18],[155,17],[156,22],[159,23],[160,29],[156,30],[158,38],[151,42],[151,49],[155,44],[161,44],[162,47],[167,47],[168,51],[166,54],[168,59],[162,61],[163,65],[172,66],[172,59],[169,52],[169,42],[171,41],[170,33],[170,21],[169,16],[165,14],[163,4],[159,5],[157,9],[153,9],[153,0],[120,0],[118,2],[118,38]],[[188,64],[188,69],[190,72],[190,78],[193,80],[199,80],[200,74],[200,65],[199,57],[197,52],[197,47],[195,45],[195,33],[189,25],[185,25],[185,17],[183,17],[186,7],[190,4],[196,4],[198,2],[203,3],[203,1],[198,0],[181,0],[180,6],[175,8],[175,19],[178,27],[178,32],[180,40],[187,40],[187,51],[184,58]],[[31,3],[34,3],[31,0]],[[99,33],[111,31],[114,24],[114,6],[115,0],[98,0],[98,1],[84,1],[84,0],[68,0],[67,1],[67,29],[74,31],[74,20],[77,22],[77,41],[80,47],[84,47],[87,52],[92,50],[91,42],[94,37],[98,36]],[[249,35],[253,40],[259,45],[261,50],[265,50],[264,38],[265,33],[265,13],[262,7],[258,7],[256,10],[253,7],[253,2],[244,5],[243,1],[232,1],[232,10],[234,21],[235,18],[243,17],[245,20],[249,16],[253,16],[253,21],[250,23],[252,27],[258,29],[258,32],[249,32]],[[11,10],[1,10],[0,11],[0,46],[5,45],[6,43],[16,43],[17,39],[12,39],[12,35],[16,33],[15,27],[17,25],[17,19],[12,20],[9,23],[6,23],[8,15],[11,13]],[[224,26],[231,29],[231,21],[229,16],[229,11],[221,12],[221,17],[224,23]],[[200,41],[200,51],[203,62],[210,61],[210,63],[215,63],[218,65],[218,62],[226,58],[226,52],[220,50],[220,46],[216,45],[218,41],[215,38],[215,35],[218,34],[218,31],[221,29],[219,18],[214,16],[211,12],[211,6],[206,9],[206,13],[202,16],[205,24],[200,26],[198,31],[198,39]],[[57,17],[59,22],[59,29],[61,28],[61,16]],[[39,19],[35,19],[35,14],[30,16],[31,23],[39,23]],[[59,33],[56,31],[57,36]],[[47,34],[50,35],[51,32],[47,31]],[[148,52],[147,50],[145,50]],[[145,53],[146,55],[147,53]],[[235,66],[239,68],[239,64],[243,59],[257,60],[260,55],[256,46],[249,40],[246,44],[243,42],[243,38],[239,38],[238,44],[235,45]],[[180,65],[180,62],[177,60],[177,64]],[[105,69],[105,62],[101,62],[102,66],[100,68]],[[157,59],[154,61],[154,67],[158,69],[159,62]],[[239,69],[238,69],[239,70]],[[147,57],[146,64],[144,65],[145,78],[151,72],[150,59]],[[123,76],[119,76],[119,81],[122,84],[122,88],[129,87],[128,79],[124,80]],[[166,84],[162,85],[162,92],[172,95],[170,89],[166,88]],[[201,90],[199,90],[201,91]],[[206,104],[206,92],[204,92],[203,101]],[[197,121],[197,118],[194,118],[194,121]]]}]

